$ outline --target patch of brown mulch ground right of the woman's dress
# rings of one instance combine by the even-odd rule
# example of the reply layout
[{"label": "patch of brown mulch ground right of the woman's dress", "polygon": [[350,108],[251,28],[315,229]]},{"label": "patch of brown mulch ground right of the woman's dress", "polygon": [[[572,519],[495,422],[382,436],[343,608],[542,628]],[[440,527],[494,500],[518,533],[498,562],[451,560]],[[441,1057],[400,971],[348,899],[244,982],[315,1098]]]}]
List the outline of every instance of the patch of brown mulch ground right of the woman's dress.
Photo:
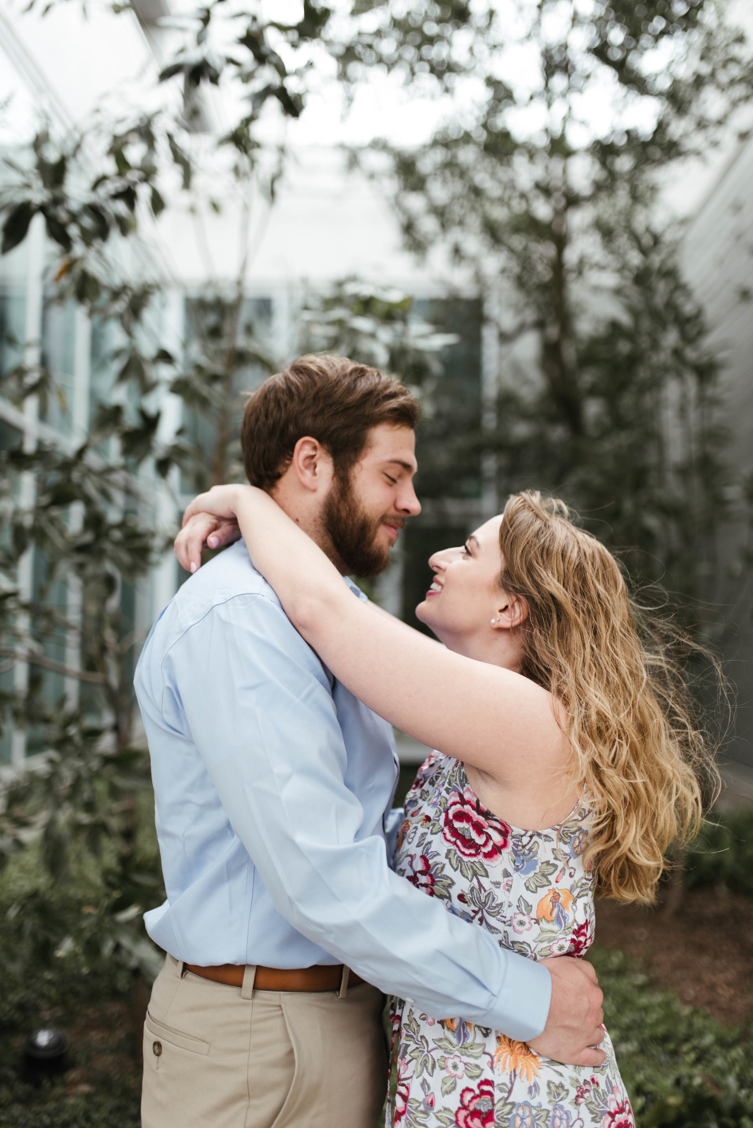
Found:
[{"label": "patch of brown mulch ground right of the woman's dress", "polygon": [[753,1019],[753,902],[685,890],[674,911],[596,902],[596,943],[640,957],[657,987],[726,1023]]}]

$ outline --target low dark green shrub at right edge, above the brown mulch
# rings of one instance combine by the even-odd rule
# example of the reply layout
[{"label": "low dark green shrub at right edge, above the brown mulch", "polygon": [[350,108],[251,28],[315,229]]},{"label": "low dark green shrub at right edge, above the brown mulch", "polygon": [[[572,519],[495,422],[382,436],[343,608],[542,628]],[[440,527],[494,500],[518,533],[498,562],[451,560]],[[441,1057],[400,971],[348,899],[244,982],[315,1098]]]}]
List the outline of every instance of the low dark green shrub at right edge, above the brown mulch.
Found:
[{"label": "low dark green shrub at right edge, above the brown mulch", "polygon": [[753,899],[753,810],[712,813],[685,853],[684,883],[728,889]]}]

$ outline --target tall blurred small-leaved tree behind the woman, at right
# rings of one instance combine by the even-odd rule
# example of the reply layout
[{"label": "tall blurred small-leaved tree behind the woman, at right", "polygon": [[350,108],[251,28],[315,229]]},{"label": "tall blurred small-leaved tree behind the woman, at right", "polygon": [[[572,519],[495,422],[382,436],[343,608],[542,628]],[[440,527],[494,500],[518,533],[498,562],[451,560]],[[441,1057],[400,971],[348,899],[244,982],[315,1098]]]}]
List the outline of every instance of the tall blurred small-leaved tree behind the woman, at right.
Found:
[{"label": "tall blurred small-leaved tree behind the woman, at right", "polygon": [[[454,91],[425,144],[357,158],[392,178],[406,245],[444,247],[490,296],[502,379],[479,412],[477,466],[493,457],[500,496],[564,494],[639,581],[702,620],[725,511],[719,364],[661,191],[750,100],[742,34],[712,0],[374,7],[356,53]],[[460,444],[427,434],[422,467]]]}]

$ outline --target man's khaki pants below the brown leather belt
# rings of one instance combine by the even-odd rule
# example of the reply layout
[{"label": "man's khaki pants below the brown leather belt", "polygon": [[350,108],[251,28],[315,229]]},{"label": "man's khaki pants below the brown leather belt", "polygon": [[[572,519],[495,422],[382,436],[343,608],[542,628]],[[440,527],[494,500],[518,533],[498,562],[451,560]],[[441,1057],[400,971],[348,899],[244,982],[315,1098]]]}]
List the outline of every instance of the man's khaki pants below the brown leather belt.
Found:
[{"label": "man's khaki pants below the brown leather belt", "polygon": [[375,987],[247,992],[171,955],[144,1023],[142,1128],[374,1128],[387,1092]]}]

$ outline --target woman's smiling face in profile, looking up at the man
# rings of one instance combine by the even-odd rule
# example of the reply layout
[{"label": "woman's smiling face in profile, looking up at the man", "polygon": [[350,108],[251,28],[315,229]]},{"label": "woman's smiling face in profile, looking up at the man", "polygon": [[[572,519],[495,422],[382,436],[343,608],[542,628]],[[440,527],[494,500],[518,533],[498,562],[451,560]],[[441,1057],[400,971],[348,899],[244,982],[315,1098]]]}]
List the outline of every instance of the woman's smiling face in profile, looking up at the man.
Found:
[{"label": "woman's smiling face in profile, looking up at the man", "polygon": [[500,522],[500,515],[493,517],[464,545],[445,548],[429,558],[434,582],[416,608],[416,617],[452,650],[459,649],[457,643],[463,636],[488,637],[490,620],[507,602],[499,587]]}]

